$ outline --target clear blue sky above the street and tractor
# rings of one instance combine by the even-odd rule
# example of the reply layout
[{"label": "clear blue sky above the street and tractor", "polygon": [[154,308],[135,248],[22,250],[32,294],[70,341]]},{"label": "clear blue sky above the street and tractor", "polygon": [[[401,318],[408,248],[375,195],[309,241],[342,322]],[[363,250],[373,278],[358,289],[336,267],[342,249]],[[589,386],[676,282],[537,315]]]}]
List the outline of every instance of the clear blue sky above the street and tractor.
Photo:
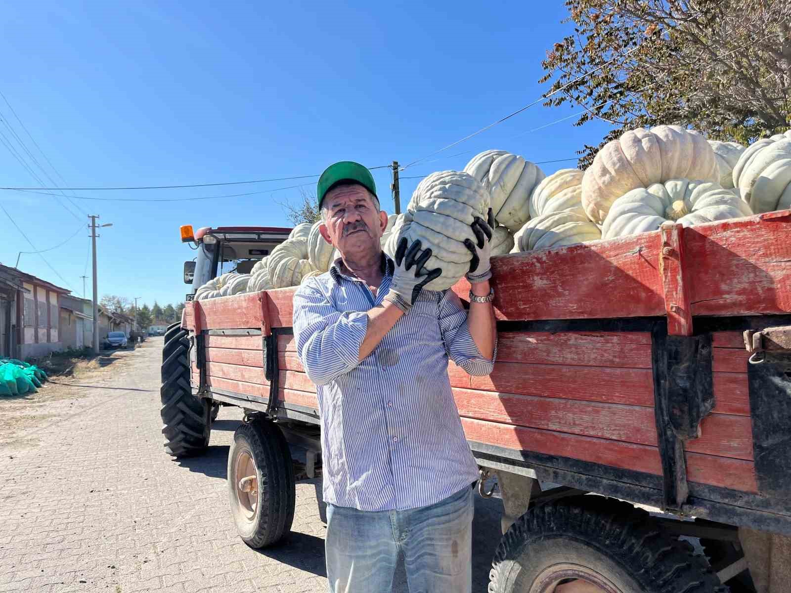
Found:
[{"label": "clear blue sky above the street and tractor", "polygon": [[[216,183],[317,175],[339,160],[407,164],[546,90],[541,60],[570,30],[563,2],[12,2],[4,8],[2,92],[59,176],[0,99],[0,117],[60,187]],[[506,149],[532,161],[574,157],[602,125],[540,104],[402,172],[461,169],[475,153]],[[0,123],[0,131],[15,142]],[[0,137],[2,138],[2,137]],[[471,152],[460,156],[462,151]],[[19,156],[36,171],[17,145]],[[441,160],[434,160],[439,159]],[[550,173],[573,161],[541,165]],[[392,212],[390,174],[374,171]],[[61,179],[68,183],[68,186]],[[0,186],[40,183],[0,145]],[[406,203],[419,179],[403,179]],[[308,183],[304,188],[272,191]],[[37,249],[20,269],[81,294],[90,277],[85,213],[112,222],[99,241],[99,292],[160,304],[184,298],[193,253],[179,225],[288,225],[278,202],[312,192],[315,178],[168,191],[73,191],[104,202],[0,191],[0,204]],[[60,203],[59,203],[60,202]],[[71,210],[74,215],[69,213]],[[78,210],[79,209],[79,210]],[[33,251],[0,211],[0,262]],[[91,279],[86,281],[90,296]]]}]

